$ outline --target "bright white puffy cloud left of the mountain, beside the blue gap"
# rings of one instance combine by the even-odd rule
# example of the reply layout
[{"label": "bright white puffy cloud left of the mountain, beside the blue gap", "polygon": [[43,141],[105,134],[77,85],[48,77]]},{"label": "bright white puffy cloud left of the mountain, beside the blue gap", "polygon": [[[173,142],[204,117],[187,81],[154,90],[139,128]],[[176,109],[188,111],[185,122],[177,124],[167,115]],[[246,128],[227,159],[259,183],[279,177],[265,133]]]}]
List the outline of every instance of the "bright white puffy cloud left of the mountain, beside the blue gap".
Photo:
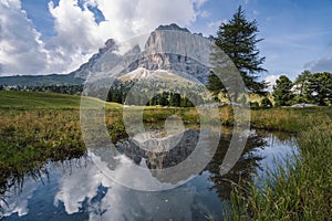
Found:
[{"label": "bright white puffy cloud left of the mountain, beside the blue gap", "polygon": [[56,7],[51,1],[49,10],[56,32],[45,42],[49,72],[65,73],[76,69],[107,39],[100,34],[94,14],[86,7],[82,10],[76,0],[61,0]]}]

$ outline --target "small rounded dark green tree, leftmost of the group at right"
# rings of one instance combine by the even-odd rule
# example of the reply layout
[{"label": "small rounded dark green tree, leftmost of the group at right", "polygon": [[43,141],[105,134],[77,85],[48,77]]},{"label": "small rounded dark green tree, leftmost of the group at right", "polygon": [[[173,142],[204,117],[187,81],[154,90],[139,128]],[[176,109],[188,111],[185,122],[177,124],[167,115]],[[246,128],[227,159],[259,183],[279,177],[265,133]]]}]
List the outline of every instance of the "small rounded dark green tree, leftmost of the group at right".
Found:
[{"label": "small rounded dark green tree, leftmost of the group at right", "polygon": [[292,93],[293,83],[286,76],[281,75],[273,86],[273,97],[276,106],[288,106],[293,99]]}]

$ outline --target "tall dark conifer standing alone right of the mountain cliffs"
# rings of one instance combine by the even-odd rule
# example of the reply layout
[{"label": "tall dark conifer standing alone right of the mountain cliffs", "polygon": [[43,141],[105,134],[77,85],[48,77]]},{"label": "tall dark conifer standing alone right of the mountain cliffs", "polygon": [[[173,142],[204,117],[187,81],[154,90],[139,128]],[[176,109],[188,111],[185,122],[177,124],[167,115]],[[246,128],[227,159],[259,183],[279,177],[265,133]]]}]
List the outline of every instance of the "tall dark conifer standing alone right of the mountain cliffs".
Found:
[{"label": "tall dark conifer standing alone right of the mountain cliffs", "polygon": [[[228,23],[222,23],[215,38],[215,44],[221,49],[239,70],[242,80],[248,90],[252,93],[263,94],[267,87],[264,82],[259,82],[258,77],[266,70],[261,67],[264,57],[259,56],[257,43],[262,39],[257,39],[257,21],[249,22],[245,17],[245,11],[241,6],[232,15]],[[208,80],[208,87],[216,93],[225,90],[224,85],[216,83],[216,76]],[[237,98],[237,97],[236,97]]]}]

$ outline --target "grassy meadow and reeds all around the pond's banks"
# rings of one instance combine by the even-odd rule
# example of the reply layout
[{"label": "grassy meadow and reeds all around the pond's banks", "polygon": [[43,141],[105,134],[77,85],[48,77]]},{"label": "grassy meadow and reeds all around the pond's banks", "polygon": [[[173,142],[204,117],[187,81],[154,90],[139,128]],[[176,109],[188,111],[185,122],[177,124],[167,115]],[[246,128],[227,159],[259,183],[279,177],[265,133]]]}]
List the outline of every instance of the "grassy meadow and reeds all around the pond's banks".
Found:
[{"label": "grassy meadow and reeds all around the pond's banks", "polygon": [[[48,161],[86,152],[80,127],[80,96],[2,91],[0,97],[0,196],[10,186],[21,183],[24,175],[40,171]],[[122,108],[116,103],[105,105],[105,123],[113,141],[127,136]],[[221,124],[231,126],[231,107],[219,110]],[[173,115],[180,116],[185,124],[199,123],[195,108],[158,106],[145,107],[143,120],[158,123]],[[271,175],[262,189],[252,183],[234,185],[231,219],[330,219],[332,107],[252,109],[251,128],[294,134],[300,156],[293,165],[280,168],[279,176]]]}]

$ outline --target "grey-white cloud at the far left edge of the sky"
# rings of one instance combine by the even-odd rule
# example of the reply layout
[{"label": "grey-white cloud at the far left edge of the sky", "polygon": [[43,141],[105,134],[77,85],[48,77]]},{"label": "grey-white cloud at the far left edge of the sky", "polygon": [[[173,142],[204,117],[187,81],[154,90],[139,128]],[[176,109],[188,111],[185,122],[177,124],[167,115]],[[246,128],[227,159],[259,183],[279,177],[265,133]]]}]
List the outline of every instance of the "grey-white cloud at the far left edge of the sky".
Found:
[{"label": "grey-white cloud at the far left edge of the sky", "polygon": [[[33,23],[19,0],[0,2],[0,71],[33,74],[44,70],[46,57]],[[0,74],[1,74],[0,73]]]}]

